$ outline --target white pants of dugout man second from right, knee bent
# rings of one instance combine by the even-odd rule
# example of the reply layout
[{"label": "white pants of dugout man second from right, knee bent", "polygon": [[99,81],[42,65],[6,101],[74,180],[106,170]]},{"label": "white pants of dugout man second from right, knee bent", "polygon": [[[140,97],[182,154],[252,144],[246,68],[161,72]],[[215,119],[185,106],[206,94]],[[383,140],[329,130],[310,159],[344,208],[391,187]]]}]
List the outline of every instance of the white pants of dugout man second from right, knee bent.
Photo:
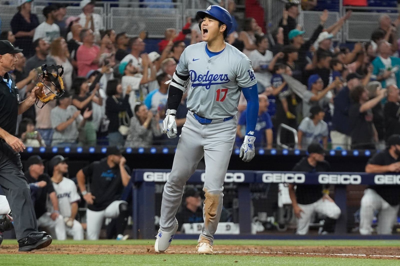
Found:
[{"label": "white pants of dugout man second from right, knee bent", "polygon": [[331,219],[338,219],[340,216],[340,208],[336,203],[332,201],[328,201],[327,199],[322,200],[322,198],[318,199],[318,201],[311,204],[299,204],[299,207],[304,211],[300,213],[301,217],[297,218],[297,231],[296,234],[307,234],[308,229],[310,227],[311,219],[314,215],[320,214],[323,216],[327,216]]}]

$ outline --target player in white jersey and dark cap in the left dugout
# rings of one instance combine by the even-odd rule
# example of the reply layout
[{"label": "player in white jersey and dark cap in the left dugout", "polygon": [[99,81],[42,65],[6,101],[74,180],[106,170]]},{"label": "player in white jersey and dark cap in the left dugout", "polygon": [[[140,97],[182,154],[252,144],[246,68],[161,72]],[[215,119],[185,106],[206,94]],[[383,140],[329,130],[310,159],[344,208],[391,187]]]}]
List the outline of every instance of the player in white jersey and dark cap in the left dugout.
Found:
[{"label": "player in white jersey and dark cap in the left dugout", "polygon": [[78,213],[80,196],[74,181],[64,177],[68,173],[68,164],[65,160],[66,158],[61,155],[56,155],[50,160],[51,181],[57,195],[60,214],[64,217],[66,234],[72,236],[74,240],[83,240],[84,232],[82,225],[75,220]]}]

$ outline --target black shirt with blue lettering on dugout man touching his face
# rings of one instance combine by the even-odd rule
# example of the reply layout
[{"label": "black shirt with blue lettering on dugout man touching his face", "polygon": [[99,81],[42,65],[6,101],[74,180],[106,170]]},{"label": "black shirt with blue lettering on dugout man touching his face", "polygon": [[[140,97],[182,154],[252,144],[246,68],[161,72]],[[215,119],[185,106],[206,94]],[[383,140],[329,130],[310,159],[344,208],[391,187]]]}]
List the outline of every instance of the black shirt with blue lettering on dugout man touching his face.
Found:
[{"label": "black shirt with blue lettering on dugout man touching his face", "polygon": [[[130,173],[128,166],[125,169]],[[95,199],[93,205],[88,205],[91,211],[102,211],[113,201],[121,199],[124,185],[122,185],[120,167],[117,165],[110,168],[107,164],[107,158],[92,162],[82,169],[87,183],[90,184],[90,192]]]}]

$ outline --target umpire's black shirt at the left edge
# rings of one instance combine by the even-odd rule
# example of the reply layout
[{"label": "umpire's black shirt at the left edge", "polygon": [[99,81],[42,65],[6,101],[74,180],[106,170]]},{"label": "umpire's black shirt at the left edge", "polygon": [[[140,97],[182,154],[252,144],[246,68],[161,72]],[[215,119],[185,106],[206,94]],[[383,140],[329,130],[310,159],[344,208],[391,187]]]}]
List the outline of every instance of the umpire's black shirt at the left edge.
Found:
[{"label": "umpire's black shirt at the left edge", "polygon": [[13,136],[17,129],[19,102],[18,87],[11,75],[6,73],[0,77],[0,128]]}]

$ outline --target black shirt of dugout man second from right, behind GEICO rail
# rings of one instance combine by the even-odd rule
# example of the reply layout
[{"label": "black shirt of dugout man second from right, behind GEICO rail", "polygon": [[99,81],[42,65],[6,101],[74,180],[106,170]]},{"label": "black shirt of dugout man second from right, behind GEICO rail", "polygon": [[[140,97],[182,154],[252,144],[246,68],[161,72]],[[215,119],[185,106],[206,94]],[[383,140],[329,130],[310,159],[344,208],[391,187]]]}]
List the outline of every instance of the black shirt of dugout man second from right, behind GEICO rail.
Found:
[{"label": "black shirt of dugout man second from right, behind GEICO rail", "polygon": [[[317,162],[317,165],[311,166],[308,161],[307,157],[304,157],[300,162],[298,162],[294,167],[294,172],[327,172],[330,168],[330,165],[326,161]],[[296,184],[296,199],[298,204],[311,204],[318,201],[322,198],[323,193],[323,186],[322,185],[299,185]]]}]

